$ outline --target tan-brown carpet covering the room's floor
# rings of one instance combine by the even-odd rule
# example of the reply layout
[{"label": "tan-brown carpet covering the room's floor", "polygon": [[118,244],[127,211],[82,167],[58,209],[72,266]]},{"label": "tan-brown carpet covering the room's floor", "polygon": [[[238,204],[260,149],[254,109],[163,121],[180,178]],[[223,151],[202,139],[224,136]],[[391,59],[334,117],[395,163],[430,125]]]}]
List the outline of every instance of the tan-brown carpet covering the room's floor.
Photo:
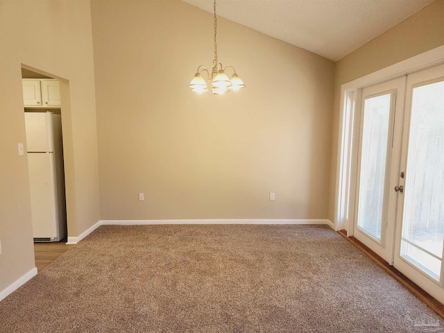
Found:
[{"label": "tan-brown carpet covering the room's floor", "polygon": [[444,321],[312,225],[101,226],[0,302],[2,333],[431,327]]}]

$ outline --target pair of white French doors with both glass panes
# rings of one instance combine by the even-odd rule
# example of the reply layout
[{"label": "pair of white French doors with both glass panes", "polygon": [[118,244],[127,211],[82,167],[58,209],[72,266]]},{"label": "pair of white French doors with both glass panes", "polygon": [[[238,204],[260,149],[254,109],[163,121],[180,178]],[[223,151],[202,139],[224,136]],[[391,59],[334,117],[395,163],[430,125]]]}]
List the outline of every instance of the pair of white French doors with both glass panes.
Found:
[{"label": "pair of white French doors with both glass panes", "polygon": [[354,236],[444,303],[444,65],[360,101]]}]

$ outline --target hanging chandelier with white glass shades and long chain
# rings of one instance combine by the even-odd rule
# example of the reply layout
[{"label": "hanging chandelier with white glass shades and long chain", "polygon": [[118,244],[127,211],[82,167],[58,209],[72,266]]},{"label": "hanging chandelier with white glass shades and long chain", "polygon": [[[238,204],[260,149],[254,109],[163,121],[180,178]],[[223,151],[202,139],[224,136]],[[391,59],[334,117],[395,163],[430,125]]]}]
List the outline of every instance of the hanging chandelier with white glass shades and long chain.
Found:
[{"label": "hanging chandelier with white glass shades and long chain", "polygon": [[[208,87],[211,85],[212,93],[214,96],[225,94],[225,92],[236,91],[244,88],[244,82],[239,78],[236,73],[236,69],[232,66],[223,67],[217,60],[217,17],[216,17],[216,0],[214,0],[214,60],[213,68],[210,76],[210,71],[204,65],[200,65],[197,68],[197,72],[194,75],[193,80],[189,83],[191,91],[197,92],[198,94],[202,92],[207,92]],[[228,78],[225,74],[225,69],[232,69],[234,74]],[[202,76],[205,73],[206,78]]]}]

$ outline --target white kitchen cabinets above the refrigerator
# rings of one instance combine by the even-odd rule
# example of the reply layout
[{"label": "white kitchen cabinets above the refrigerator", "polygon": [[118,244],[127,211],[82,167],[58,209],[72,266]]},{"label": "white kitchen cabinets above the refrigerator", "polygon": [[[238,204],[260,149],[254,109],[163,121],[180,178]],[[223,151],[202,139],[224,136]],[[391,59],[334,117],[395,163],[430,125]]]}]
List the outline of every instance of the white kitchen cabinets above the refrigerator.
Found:
[{"label": "white kitchen cabinets above the refrigerator", "polygon": [[60,83],[53,79],[24,78],[25,108],[60,108]]}]

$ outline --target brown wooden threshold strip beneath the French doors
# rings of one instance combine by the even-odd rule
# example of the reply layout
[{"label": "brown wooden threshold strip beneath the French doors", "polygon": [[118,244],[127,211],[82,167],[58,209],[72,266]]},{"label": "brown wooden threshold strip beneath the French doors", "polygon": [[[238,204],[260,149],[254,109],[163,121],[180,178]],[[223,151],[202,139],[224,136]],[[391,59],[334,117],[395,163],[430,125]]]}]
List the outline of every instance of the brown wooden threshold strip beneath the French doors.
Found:
[{"label": "brown wooden threshold strip beneath the French doors", "polygon": [[420,287],[418,287],[414,282],[412,282],[407,276],[402,274],[398,269],[396,269],[393,266],[390,266],[387,262],[382,259],[382,257],[379,257],[373,250],[370,250],[367,246],[361,243],[361,241],[358,241],[355,237],[347,237],[347,232],[345,230],[339,230],[338,231],[341,236],[343,236],[345,239],[350,241],[351,244],[359,248],[363,253],[368,255],[370,259],[373,260],[379,267],[384,269],[391,277],[395,278],[395,280],[398,280],[400,284],[402,284],[407,290],[409,290],[411,293],[413,293],[414,296],[422,300],[428,307],[430,307],[432,310],[438,314],[438,316],[441,316],[441,318],[444,318],[444,305],[442,305],[438,300],[433,298],[429,295],[429,293],[426,293],[424,290],[422,290]]}]

